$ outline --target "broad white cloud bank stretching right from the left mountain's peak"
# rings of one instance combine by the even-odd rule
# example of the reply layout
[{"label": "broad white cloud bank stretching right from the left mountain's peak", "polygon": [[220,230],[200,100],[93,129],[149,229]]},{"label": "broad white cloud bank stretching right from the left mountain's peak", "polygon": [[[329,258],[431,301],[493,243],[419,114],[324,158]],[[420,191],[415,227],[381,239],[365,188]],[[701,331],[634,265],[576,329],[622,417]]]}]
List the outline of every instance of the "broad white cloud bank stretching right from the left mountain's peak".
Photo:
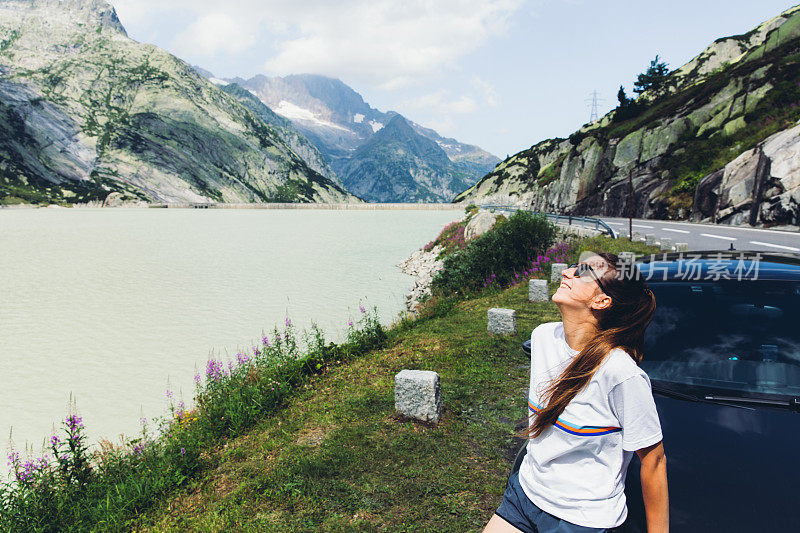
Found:
[{"label": "broad white cloud bank stretching right from the left mountain's peak", "polygon": [[163,24],[164,14],[173,16],[178,27],[172,49],[193,62],[260,46],[267,73],[311,72],[400,89],[456,69],[462,57],[508,30],[523,1],[116,0],[114,5],[123,24],[152,26]]}]

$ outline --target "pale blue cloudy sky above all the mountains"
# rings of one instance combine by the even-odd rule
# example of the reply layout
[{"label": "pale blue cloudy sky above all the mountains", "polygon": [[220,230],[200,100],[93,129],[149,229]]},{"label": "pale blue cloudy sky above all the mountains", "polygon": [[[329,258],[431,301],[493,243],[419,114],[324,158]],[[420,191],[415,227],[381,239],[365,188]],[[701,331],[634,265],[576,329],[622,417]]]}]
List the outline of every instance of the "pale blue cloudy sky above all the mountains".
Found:
[{"label": "pale blue cloudy sky above all the mountains", "polygon": [[[797,0],[795,0],[797,1]],[[217,77],[323,74],[504,158],[791,7],[774,0],[111,0],[128,35]]]}]

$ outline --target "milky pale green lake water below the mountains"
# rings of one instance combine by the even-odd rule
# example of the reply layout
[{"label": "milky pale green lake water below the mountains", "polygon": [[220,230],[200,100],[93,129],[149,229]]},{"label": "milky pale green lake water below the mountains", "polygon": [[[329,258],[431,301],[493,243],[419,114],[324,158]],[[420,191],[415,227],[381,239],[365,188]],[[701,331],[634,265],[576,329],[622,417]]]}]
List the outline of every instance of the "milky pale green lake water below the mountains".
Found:
[{"label": "milky pale green lake water below the mountains", "polygon": [[287,316],[332,340],[359,305],[391,323],[397,264],[462,213],[0,209],[3,438],[40,452],[71,397],[91,441],[135,435]]}]

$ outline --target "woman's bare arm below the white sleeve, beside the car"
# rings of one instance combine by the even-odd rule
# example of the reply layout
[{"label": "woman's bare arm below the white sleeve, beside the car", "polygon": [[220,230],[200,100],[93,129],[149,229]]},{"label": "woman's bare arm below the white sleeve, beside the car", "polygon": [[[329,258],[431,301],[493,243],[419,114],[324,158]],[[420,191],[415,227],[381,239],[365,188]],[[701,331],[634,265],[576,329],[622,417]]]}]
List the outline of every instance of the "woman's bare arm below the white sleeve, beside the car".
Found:
[{"label": "woman's bare arm below the white sleeve, beside the car", "polygon": [[667,456],[664,443],[636,450],[642,462],[642,496],[648,533],[669,531],[669,495],[667,493]]}]

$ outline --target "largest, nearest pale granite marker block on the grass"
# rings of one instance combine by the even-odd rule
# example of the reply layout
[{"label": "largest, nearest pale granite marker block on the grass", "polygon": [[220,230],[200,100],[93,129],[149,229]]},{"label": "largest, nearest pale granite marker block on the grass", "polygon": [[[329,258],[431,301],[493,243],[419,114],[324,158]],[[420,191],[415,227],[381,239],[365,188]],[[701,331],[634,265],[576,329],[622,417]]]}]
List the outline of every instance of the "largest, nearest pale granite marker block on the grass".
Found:
[{"label": "largest, nearest pale granite marker block on the grass", "polygon": [[394,408],[403,416],[439,422],[442,417],[439,374],[430,370],[401,370],[394,377]]}]

